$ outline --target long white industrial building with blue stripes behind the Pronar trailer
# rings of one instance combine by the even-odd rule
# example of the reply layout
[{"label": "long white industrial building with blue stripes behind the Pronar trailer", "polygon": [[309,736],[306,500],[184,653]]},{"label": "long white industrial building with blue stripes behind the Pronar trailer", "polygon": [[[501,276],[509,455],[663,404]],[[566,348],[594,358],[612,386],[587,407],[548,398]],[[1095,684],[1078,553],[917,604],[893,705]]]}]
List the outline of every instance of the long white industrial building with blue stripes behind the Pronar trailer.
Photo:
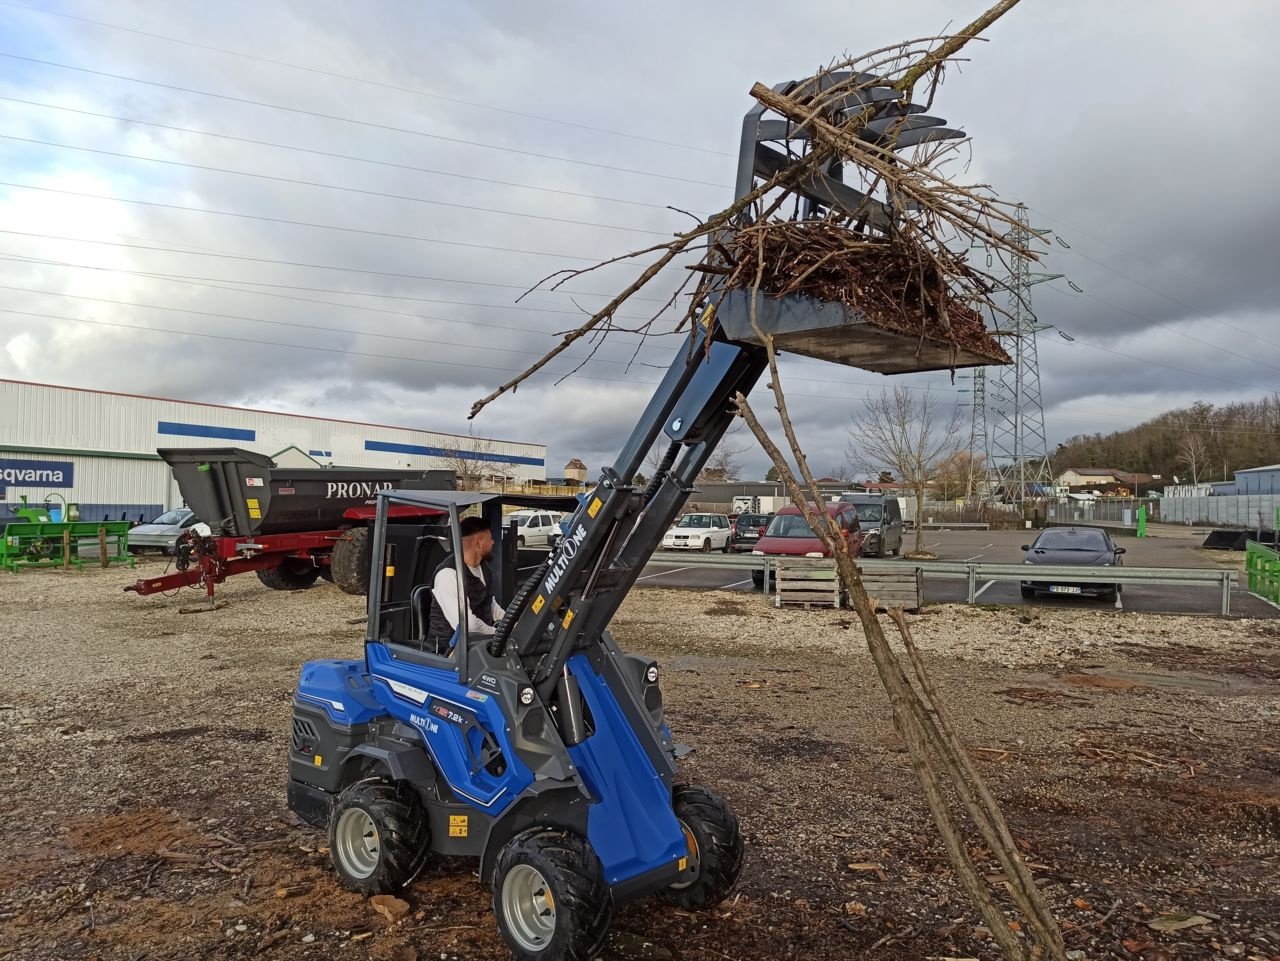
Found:
[{"label": "long white industrial building with blue stripes behind the Pronar trailer", "polygon": [[182,505],[169,447],[237,447],[288,467],[454,468],[512,482],[547,480],[547,448],[243,407],[0,379],[0,517],[20,505],[77,503],[84,520],[150,520]]}]

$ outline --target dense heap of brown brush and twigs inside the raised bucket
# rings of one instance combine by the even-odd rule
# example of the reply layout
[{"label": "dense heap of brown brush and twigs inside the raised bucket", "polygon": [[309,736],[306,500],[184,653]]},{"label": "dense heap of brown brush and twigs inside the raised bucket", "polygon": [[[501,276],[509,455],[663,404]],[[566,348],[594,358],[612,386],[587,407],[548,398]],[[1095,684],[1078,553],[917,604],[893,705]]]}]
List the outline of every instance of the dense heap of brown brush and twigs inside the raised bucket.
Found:
[{"label": "dense heap of brown brush and twigs inside the raised bucket", "polygon": [[[844,303],[883,330],[950,343],[993,363],[1010,360],[982,315],[955,294],[938,260],[905,235],[877,237],[833,219],[768,220],[737,230],[716,251],[723,264],[696,269],[723,275],[730,288],[758,282],[773,297]],[[980,274],[957,266],[970,287],[988,289]]]}]

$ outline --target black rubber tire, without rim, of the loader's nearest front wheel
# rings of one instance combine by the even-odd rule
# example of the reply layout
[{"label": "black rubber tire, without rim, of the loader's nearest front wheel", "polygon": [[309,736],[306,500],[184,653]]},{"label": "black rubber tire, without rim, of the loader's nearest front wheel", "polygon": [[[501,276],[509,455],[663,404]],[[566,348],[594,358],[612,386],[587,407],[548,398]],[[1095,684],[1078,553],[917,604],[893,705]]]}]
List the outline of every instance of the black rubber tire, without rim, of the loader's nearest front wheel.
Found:
[{"label": "black rubber tire, without rim, of the loader's nearest front wheel", "polygon": [[[550,888],[556,926],[544,944],[522,944],[507,916],[503,888],[513,868],[529,865]],[[531,828],[503,845],[493,870],[498,933],[517,961],[591,961],[609,933],[613,897],[595,851],[568,830]]]}]

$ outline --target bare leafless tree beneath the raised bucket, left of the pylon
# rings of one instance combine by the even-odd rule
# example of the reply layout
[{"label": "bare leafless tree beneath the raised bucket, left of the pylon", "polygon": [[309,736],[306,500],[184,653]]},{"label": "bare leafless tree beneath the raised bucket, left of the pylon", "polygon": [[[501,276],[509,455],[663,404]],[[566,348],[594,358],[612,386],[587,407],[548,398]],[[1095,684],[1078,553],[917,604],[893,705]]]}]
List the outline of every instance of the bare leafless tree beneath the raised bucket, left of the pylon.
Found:
[{"label": "bare leafless tree beneath the raised bucket, left of the pylon", "polygon": [[915,496],[915,552],[924,549],[920,523],[924,491],[945,461],[960,449],[960,408],[943,417],[938,402],[925,392],[896,386],[868,394],[864,409],[849,430],[849,463],[874,473],[891,470]]}]

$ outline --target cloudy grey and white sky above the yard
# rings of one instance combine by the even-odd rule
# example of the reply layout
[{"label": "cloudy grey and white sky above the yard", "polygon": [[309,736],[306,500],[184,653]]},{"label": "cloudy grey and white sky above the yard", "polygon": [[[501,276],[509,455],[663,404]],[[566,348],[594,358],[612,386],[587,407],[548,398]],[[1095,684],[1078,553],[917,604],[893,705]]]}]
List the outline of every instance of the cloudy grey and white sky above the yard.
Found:
[{"label": "cloudy grey and white sky above the yard", "polygon": [[[525,288],[731,200],[753,82],[983,5],[0,0],[0,376],[465,431],[637,267]],[[1070,244],[1039,269],[1082,293],[1034,289],[1051,447],[1280,383],[1277,27],[1252,0],[1024,0],[948,75],[972,179]],[[676,343],[636,347],[476,431],[598,468]],[[966,401],[942,374],[785,377],[819,471],[868,390]]]}]

